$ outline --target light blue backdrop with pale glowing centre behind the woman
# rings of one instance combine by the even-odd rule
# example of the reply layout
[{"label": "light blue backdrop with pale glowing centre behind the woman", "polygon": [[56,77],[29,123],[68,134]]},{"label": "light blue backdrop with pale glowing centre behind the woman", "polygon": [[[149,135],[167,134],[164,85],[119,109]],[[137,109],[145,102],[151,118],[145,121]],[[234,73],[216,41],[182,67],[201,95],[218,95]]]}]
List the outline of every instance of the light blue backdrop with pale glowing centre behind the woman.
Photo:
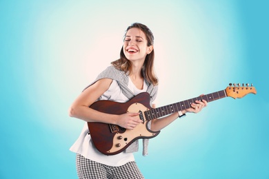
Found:
[{"label": "light blue backdrop with pale glowing centre behind the woman", "polygon": [[131,23],[155,34],[157,105],[253,83],[135,154],[146,178],[269,178],[268,1],[0,1],[0,178],[77,178],[68,107]]}]

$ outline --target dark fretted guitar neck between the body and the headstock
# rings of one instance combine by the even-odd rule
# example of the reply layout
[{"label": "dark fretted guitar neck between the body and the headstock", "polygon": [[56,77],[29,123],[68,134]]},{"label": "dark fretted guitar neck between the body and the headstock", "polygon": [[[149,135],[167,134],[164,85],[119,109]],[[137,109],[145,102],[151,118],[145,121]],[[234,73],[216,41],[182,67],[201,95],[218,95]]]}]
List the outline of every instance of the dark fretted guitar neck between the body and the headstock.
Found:
[{"label": "dark fretted guitar neck between the body and the headstock", "polygon": [[173,103],[170,105],[165,105],[162,107],[157,107],[155,109],[150,109],[145,112],[145,116],[147,120],[152,120],[155,118],[161,118],[162,116],[166,116],[168,114],[172,114],[175,112],[182,111],[184,109],[188,109],[191,107],[192,103],[195,103],[195,101],[201,101],[206,100],[207,102],[216,101],[221,98],[227,97],[226,91],[223,89],[219,92],[214,92],[210,94],[206,94],[203,96],[199,96],[197,98],[191,98],[186,101],[181,101],[178,103]]}]

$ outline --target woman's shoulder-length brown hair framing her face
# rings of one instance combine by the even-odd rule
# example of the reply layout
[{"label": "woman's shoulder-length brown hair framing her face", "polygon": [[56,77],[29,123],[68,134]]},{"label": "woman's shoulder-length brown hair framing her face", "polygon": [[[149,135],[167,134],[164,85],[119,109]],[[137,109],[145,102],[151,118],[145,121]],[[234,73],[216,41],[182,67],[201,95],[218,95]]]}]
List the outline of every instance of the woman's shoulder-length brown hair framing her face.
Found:
[{"label": "woman's shoulder-length brown hair framing her face", "polygon": [[[139,28],[139,30],[141,30],[142,32],[144,32],[144,34],[146,34],[146,39],[148,41],[147,45],[148,46],[153,45],[154,36],[146,25],[143,25],[142,23],[133,23],[127,28],[126,33],[131,28]],[[124,34],[124,39],[125,39],[125,36],[126,34]],[[152,52],[150,52],[150,54],[146,55],[146,59],[143,64],[141,73],[143,77],[146,78],[146,81],[148,81],[152,85],[158,85],[158,78],[155,75],[155,71],[154,71],[154,57],[155,57],[155,53],[153,49]],[[118,59],[117,61],[112,61],[111,64],[114,65],[117,69],[123,70],[126,73],[130,72],[130,70],[132,69],[131,68],[132,64],[130,63],[130,61],[128,61],[128,59],[123,53],[123,47],[121,48],[120,59]]]}]

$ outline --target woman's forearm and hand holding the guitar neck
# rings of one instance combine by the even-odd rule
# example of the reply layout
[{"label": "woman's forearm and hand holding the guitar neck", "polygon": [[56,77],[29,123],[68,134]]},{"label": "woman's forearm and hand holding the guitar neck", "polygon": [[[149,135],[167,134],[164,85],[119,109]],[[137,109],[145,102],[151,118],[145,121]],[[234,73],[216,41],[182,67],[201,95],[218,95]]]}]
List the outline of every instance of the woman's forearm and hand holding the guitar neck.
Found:
[{"label": "woman's forearm and hand holding the guitar neck", "polygon": [[[196,103],[196,104],[195,104]],[[200,112],[203,107],[207,106],[207,102],[205,100],[203,101],[195,101],[195,103],[192,103],[192,107],[186,110],[182,110],[182,114],[186,114],[187,112],[197,113]],[[154,107],[154,106],[153,106]],[[159,131],[163,129],[164,127],[170,125],[174,120],[176,120],[179,117],[179,114],[176,112],[174,114],[170,114],[169,116],[158,118],[152,120],[151,123],[151,130],[152,131]]]}]

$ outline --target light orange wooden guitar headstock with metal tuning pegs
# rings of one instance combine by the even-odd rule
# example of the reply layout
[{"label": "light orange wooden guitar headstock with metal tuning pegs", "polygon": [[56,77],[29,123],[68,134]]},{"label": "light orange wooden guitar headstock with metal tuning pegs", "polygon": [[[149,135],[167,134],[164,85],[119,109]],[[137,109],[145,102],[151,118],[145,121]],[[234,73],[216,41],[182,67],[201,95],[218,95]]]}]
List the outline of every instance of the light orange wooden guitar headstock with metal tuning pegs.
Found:
[{"label": "light orange wooden guitar headstock with metal tuning pegs", "polygon": [[226,87],[226,94],[227,96],[230,96],[232,98],[243,98],[243,96],[246,96],[247,94],[257,94],[255,87],[253,87],[253,85],[249,85],[248,83],[246,83],[246,85],[244,84],[233,84],[232,83],[229,84],[230,86]]}]

